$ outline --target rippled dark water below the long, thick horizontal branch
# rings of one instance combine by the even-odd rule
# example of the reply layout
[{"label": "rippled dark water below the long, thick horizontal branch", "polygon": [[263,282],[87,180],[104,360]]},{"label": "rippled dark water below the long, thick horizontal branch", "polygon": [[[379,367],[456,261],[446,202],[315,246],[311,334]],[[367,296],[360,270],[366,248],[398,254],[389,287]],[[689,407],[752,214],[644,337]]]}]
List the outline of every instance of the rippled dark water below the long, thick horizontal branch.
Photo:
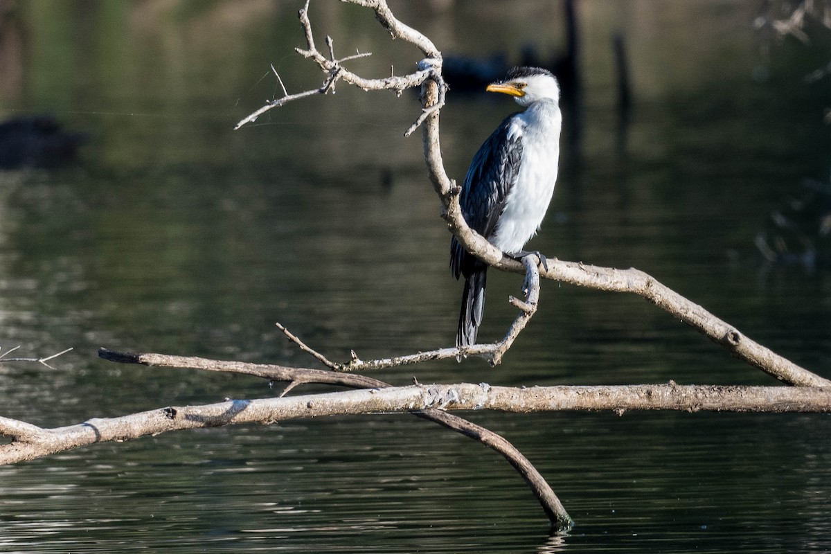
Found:
[{"label": "rippled dark water below the long, thick horizontal branch", "polygon": [[547,537],[542,511],[493,453],[416,419],[373,416],[171,434],[3,468],[0,544],[6,552],[823,552],[829,537],[825,421],[476,419],[538,463],[578,521],[568,537]]}]

